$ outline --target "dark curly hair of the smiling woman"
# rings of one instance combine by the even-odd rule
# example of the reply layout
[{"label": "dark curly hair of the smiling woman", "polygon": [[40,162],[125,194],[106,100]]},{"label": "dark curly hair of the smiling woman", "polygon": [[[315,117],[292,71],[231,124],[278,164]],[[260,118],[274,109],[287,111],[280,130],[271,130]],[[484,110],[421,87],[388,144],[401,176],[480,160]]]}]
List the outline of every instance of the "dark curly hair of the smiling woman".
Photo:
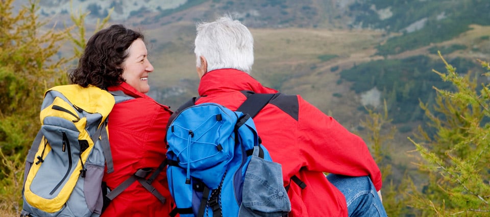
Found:
[{"label": "dark curly hair of the smiling woman", "polygon": [[70,71],[72,84],[93,85],[102,89],[124,82],[122,62],[129,55],[128,48],[143,34],[123,25],[112,25],[95,33],[87,42],[78,67]]}]

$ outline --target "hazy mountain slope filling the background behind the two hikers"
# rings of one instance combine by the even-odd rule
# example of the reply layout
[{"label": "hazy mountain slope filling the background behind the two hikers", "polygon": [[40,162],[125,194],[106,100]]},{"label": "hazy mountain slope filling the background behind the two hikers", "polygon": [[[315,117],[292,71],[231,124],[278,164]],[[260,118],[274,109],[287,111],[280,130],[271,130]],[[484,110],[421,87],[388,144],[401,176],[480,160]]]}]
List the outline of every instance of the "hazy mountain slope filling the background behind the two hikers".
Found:
[{"label": "hazy mountain slope filling the background behind the two hikers", "polygon": [[[41,15],[66,21],[69,2],[40,1]],[[362,102],[379,105],[390,92],[378,89],[378,100],[363,100],[362,94],[372,90],[375,82],[340,77],[342,71],[360,66],[368,70],[365,74],[376,75],[362,64],[377,61],[397,70],[402,67],[390,61],[401,59],[398,64],[402,64],[406,58],[421,55],[437,61],[437,50],[468,61],[485,57],[489,51],[487,28],[470,26],[490,22],[485,12],[490,3],[482,0],[84,0],[72,1],[72,6],[91,11],[89,28],[94,18],[103,17],[113,7],[112,23],[143,31],[156,69],[150,81],[151,95],[173,107],[197,93],[192,52],[195,22],[225,13],[242,20],[255,36],[255,77],[281,91],[305,95],[345,125],[357,125],[362,115],[358,109],[366,105]],[[421,73],[431,74],[430,67]],[[365,89],[356,90],[362,86],[356,82],[365,84]],[[428,95],[418,97],[427,99]]]}]

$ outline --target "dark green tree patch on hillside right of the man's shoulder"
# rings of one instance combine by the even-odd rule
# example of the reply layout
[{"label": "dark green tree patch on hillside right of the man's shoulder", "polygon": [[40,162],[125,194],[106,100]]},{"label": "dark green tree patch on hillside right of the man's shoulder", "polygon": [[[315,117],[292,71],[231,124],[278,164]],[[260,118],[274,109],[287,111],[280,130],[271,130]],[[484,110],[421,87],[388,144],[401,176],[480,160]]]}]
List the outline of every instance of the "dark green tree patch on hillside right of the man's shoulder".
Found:
[{"label": "dark green tree patch on hillside right of the man's shoulder", "polygon": [[[451,63],[460,70],[474,68],[468,59],[454,58]],[[431,87],[451,88],[448,82],[431,72],[433,68],[444,68],[445,65],[427,56],[413,56],[405,59],[386,59],[361,63],[353,68],[340,72],[340,78],[353,82],[351,89],[356,93],[365,92],[376,87],[382,90],[382,97],[388,99],[388,113],[393,123],[425,121],[420,109],[419,100],[432,102],[434,97]]]}]

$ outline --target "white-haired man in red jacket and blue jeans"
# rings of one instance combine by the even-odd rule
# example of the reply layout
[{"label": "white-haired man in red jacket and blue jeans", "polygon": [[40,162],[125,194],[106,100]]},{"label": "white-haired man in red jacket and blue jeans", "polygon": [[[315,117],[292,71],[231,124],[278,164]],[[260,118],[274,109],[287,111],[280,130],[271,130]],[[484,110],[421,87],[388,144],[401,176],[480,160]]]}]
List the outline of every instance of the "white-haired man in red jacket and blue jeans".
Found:
[{"label": "white-haired man in red jacket and blue jeans", "polygon": [[[250,94],[243,90],[278,92],[249,75],[254,39],[239,21],[225,16],[200,23],[194,43],[201,78],[196,104],[236,110]],[[360,137],[300,95],[279,94],[254,121],[273,160],[282,164],[289,216],[386,216],[376,193],[381,173]]]}]

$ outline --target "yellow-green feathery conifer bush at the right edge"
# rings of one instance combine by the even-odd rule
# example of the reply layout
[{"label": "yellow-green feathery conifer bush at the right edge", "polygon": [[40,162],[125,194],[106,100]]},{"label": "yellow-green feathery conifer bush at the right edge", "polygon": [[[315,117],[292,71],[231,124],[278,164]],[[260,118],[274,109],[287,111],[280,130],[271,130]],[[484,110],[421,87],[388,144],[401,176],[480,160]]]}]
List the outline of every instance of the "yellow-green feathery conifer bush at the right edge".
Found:
[{"label": "yellow-green feathery conifer bush at the right edge", "polygon": [[[425,210],[424,216],[490,216],[490,125],[483,124],[490,116],[490,84],[480,88],[475,77],[460,76],[446,64],[447,73],[434,72],[454,86],[436,89],[435,110],[421,104],[435,130],[429,136],[424,130],[409,138],[421,155],[420,171],[428,177],[424,188],[413,189],[412,206]],[[488,62],[482,62],[490,76]],[[482,168],[484,168],[482,170]]]}]

